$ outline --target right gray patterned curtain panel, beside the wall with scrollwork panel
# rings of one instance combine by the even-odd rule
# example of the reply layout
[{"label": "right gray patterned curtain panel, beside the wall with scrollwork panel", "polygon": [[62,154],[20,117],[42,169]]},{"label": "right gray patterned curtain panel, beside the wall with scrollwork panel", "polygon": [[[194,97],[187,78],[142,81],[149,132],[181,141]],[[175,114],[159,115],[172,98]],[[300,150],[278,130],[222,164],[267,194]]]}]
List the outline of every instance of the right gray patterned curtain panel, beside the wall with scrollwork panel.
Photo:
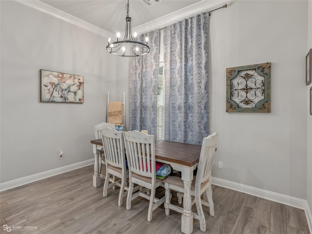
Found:
[{"label": "right gray patterned curtain panel, beside the wall with scrollwork panel", "polygon": [[209,135],[209,14],[164,28],[165,140],[201,144]]}]

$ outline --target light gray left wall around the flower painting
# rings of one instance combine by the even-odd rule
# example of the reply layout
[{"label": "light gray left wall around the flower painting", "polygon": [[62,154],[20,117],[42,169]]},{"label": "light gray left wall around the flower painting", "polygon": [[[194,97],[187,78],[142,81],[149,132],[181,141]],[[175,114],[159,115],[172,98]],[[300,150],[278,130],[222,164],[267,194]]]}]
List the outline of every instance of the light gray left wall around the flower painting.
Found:
[{"label": "light gray left wall around the flower painting", "polygon": [[[106,93],[116,93],[107,39],[16,1],[0,4],[0,181],[94,158],[93,125],[106,120]],[[40,69],[84,76],[84,103],[40,103]]]}]

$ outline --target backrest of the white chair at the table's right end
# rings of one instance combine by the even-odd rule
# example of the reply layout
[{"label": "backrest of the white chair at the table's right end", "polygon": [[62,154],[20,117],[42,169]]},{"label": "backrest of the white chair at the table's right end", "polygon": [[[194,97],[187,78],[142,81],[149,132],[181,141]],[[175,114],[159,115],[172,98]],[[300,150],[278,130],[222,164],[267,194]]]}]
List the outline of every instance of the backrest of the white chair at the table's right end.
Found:
[{"label": "backrest of the white chair at the table's right end", "polygon": [[211,175],[217,138],[217,133],[213,133],[212,135],[203,138],[195,181],[198,186],[208,180]]}]

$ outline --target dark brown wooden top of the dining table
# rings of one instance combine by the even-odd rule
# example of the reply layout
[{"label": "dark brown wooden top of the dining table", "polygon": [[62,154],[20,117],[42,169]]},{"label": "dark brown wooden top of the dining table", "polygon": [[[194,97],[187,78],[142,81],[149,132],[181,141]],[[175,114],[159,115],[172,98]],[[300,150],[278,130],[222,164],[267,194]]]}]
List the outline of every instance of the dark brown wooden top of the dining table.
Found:
[{"label": "dark brown wooden top of the dining table", "polygon": [[[103,146],[102,140],[91,140],[91,144]],[[201,145],[155,140],[156,159],[174,162],[185,166],[194,166],[199,161]]]}]

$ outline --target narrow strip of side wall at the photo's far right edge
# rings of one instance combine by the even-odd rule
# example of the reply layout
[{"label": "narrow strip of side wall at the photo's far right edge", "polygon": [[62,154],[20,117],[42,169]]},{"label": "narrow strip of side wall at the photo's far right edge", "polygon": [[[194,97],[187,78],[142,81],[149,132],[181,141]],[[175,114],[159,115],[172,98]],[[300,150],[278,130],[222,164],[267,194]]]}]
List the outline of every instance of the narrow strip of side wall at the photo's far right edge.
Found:
[{"label": "narrow strip of side wall at the photo's far right edge", "polygon": [[[308,18],[308,47],[307,52],[312,48],[312,1],[309,1],[309,18]],[[312,212],[312,116],[309,113],[310,110],[310,84],[307,87],[307,200]],[[312,220],[311,220],[312,221]]]}]

